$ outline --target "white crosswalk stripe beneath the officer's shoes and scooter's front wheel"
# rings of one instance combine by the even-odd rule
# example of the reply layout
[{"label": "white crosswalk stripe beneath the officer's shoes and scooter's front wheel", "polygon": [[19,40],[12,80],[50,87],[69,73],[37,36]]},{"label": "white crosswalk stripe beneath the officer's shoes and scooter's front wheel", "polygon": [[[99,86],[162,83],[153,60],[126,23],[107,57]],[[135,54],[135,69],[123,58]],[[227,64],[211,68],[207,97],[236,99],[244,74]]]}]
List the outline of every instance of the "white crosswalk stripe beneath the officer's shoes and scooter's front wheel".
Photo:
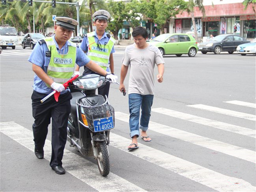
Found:
[{"label": "white crosswalk stripe beneath the officer's shoes and scooter's front wheel", "polygon": [[[14,122],[0,123],[0,131],[34,152],[35,146],[32,131]],[[44,158],[50,161],[51,153],[51,141],[46,140],[44,145]],[[112,172],[110,172],[107,177],[102,177],[96,164],[87,161],[66,148],[64,149],[62,162],[67,172],[98,191],[145,191]],[[50,167],[48,168],[50,169]]]}]

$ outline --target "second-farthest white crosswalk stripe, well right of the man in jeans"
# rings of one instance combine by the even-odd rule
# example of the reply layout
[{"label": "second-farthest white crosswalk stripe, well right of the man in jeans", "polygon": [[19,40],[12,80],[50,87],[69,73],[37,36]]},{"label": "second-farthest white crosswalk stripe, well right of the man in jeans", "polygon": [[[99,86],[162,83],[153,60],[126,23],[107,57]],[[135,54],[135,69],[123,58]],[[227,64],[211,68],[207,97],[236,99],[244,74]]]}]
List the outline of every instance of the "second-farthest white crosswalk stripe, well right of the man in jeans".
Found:
[{"label": "second-farthest white crosswalk stripe, well right of the man in jeans", "polygon": [[256,116],[248,113],[242,113],[238,111],[232,111],[228,109],[223,109],[223,108],[218,108],[218,107],[212,107],[209,105],[203,105],[203,104],[197,104],[197,105],[187,105],[188,107],[193,107],[193,108],[198,108],[198,109],[203,109],[207,111],[212,111],[215,113],[220,113],[224,115],[229,115],[229,116],[234,116],[234,117],[239,117],[243,119],[248,119],[252,121],[256,121]]}]

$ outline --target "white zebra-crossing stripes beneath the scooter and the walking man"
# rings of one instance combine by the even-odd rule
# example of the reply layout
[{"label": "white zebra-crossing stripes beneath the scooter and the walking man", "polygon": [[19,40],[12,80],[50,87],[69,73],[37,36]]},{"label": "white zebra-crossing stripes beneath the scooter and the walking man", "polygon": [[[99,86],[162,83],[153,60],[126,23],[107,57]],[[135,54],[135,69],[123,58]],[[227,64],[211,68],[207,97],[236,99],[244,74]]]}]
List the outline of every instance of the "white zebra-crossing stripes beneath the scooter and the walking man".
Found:
[{"label": "white zebra-crossing stripes beneath the scooter and the walking man", "polygon": [[[255,103],[249,103],[245,101],[223,101],[230,105],[236,105],[242,108],[255,108]],[[245,121],[256,121],[256,116],[247,113],[241,113],[238,111],[229,110],[227,108],[217,108],[214,106],[208,106],[204,104],[188,105],[186,108],[194,108],[196,110],[203,110],[210,112],[212,114],[218,113],[223,116],[231,116],[232,118],[238,118]],[[190,110],[188,110],[190,111]],[[192,112],[191,112],[192,113]],[[205,127],[205,129],[217,129],[223,134],[228,133],[236,134],[238,136],[243,136],[248,138],[248,141],[254,140],[256,138],[255,126],[254,127],[242,127],[234,124],[229,124],[225,122],[220,122],[214,119],[205,118],[197,116],[194,114],[184,113],[180,111],[175,111],[168,108],[152,108],[152,116],[160,114],[164,118],[175,118],[181,121],[186,122],[186,125],[189,126],[192,124],[198,124]],[[118,124],[126,124],[128,127],[129,124],[129,114],[116,111],[115,112],[116,126]],[[162,134],[166,138],[175,138],[186,142],[188,145],[191,145],[191,148],[204,148],[206,151],[211,151],[212,153],[221,153],[230,158],[237,159],[241,162],[247,162],[251,164],[251,167],[246,169],[255,169],[256,163],[256,152],[255,148],[251,149],[244,148],[241,146],[232,145],[228,142],[223,142],[222,138],[212,139],[211,136],[205,137],[198,133],[192,133],[188,131],[183,131],[180,127],[171,127],[161,122],[149,123],[149,130],[153,132],[153,135],[150,136],[153,140],[150,143],[156,142],[154,139],[155,134]],[[33,133],[25,127],[15,123],[15,122],[2,122],[0,123],[0,131],[10,137],[12,140],[15,140],[20,145],[28,148],[29,150],[34,150],[33,143]],[[22,135],[22,137],[20,137]],[[170,139],[169,139],[170,140]],[[221,171],[212,170],[209,167],[205,167],[200,163],[191,162],[185,158],[175,156],[174,154],[161,149],[157,149],[152,145],[148,145],[145,142],[139,141],[140,149],[130,152],[127,150],[127,145],[131,142],[127,137],[122,136],[121,132],[111,132],[110,135],[110,146],[119,150],[120,153],[125,152],[130,158],[134,156],[141,159],[149,166],[149,164],[154,164],[165,169],[167,172],[176,173],[184,178],[187,178],[195,183],[199,183],[212,190],[216,191],[255,191],[256,182],[252,183],[252,180],[247,180],[240,177],[234,177],[228,173],[223,173]],[[158,143],[161,141],[158,140]],[[166,144],[168,145],[168,143]],[[250,143],[253,146],[253,143]],[[51,141],[46,140],[44,147],[45,159],[51,159]],[[111,154],[111,153],[110,153]],[[206,154],[205,154],[206,155]],[[196,153],[195,153],[196,156]],[[112,158],[112,156],[111,156]],[[73,159],[76,159],[74,162]],[[202,160],[204,161],[204,160]],[[218,159],[221,164],[221,159]],[[82,180],[84,183],[90,185],[97,191],[149,191],[146,188],[134,184],[129,180],[126,180],[113,172],[110,172],[107,178],[101,177],[98,173],[97,165],[87,161],[74,154],[72,151],[65,149],[63,164],[67,172]],[[111,171],[111,169],[110,169]],[[246,171],[245,171],[246,172]],[[255,175],[252,175],[255,177]],[[106,186],[108,188],[106,189]],[[166,189],[167,191],[172,191],[172,189]],[[200,191],[200,189],[198,189]]]}]

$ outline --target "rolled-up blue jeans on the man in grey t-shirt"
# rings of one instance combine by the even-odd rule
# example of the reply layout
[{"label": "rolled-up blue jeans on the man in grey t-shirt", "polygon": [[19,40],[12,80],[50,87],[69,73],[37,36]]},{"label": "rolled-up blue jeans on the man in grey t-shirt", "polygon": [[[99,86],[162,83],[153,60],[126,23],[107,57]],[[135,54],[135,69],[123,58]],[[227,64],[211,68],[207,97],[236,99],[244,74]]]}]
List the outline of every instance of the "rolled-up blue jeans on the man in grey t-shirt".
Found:
[{"label": "rolled-up blue jeans on the man in grey t-shirt", "polygon": [[[140,95],[137,93],[129,94],[129,112],[130,112],[130,136],[139,137],[139,128],[143,131],[148,130],[148,123],[153,104],[154,95]],[[141,116],[140,116],[141,107]],[[139,126],[140,119],[140,126]]]}]

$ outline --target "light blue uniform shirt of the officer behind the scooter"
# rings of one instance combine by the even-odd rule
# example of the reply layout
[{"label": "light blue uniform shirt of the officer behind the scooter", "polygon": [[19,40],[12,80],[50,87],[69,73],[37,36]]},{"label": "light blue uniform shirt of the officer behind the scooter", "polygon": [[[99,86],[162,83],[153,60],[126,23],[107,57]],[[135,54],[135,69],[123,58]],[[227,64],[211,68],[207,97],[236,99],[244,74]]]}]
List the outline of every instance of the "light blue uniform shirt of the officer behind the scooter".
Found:
[{"label": "light blue uniform shirt of the officer behind the scooter", "polygon": [[[104,47],[104,44],[107,44],[108,41],[109,41],[109,39],[110,39],[110,38],[108,38],[106,32],[104,32],[104,34],[103,34],[103,36],[100,38],[100,40],[99,40],[99,38],[98,38],[98,36],[97,36],[96,31],[93,31],[93,36],[94,36],[95,42],[96,42],[96,43],[98,42],[98,43],[101,45],[102,48]],[[85,37],[83,38],[83,41],[82,41],[81,45],[80,45],[80,48],[81,48],[84,52],[86,52],[86,54],[87,54],[87,52],[88,52],[88,47],[89,47],[88,37],[85,36]],[[115,49],[114,49],[114,46],[113,46],[110,53],[114,53],[114,52],[115,52]],[[109,63],[109,60],[108,60],[108,63]],[[87,71],[88,71],[88,72],[91,71],[91,70],[88,69],[88,68],[84,68],[84,69],[85,69],[86,72],[87,72]],[[107,71],[109,72],[109,68],[107,68]]]}]

